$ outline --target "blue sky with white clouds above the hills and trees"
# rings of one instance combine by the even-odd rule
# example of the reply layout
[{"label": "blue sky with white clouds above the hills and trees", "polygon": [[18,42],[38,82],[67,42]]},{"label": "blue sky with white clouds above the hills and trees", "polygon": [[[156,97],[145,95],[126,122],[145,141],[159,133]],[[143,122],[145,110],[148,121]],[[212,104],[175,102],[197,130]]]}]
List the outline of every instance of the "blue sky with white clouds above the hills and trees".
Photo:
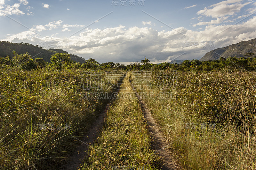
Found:
[{"label": "blue sky with white clouds above the hills and trees", "polygon": [[100,63],[200,59],[256,38],[255,0],[0,0],[0,41]]}]

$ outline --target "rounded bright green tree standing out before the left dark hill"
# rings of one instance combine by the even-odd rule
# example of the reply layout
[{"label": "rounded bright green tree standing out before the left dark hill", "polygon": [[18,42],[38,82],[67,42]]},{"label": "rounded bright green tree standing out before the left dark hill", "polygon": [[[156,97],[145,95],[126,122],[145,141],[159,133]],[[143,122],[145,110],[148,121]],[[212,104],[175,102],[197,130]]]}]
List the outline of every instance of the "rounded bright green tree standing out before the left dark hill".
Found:
[{"label": "rounded bright green tree standing out before the left dark hill", "polygon": [[65,70],[65,67],[70,64],[70,55],[67,53],[56,53],[50,58],[50,61],[57,67],[58,70]]}]

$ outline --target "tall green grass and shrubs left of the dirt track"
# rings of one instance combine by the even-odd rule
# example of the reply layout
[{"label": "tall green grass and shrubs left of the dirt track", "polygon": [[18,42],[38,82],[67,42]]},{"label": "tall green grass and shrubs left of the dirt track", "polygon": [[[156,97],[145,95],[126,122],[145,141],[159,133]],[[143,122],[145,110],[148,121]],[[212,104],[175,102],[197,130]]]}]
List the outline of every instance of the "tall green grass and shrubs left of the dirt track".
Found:
[{"label": "tall green grass and shrubs left of the dirt track", "polygon": [[[71,135],[83,137],[107,100],[81,98],[79,70],[12,70],[1,78],[0,169],[61,169],[80,144]],[[98,92],[113,91],[101,83]]]}]

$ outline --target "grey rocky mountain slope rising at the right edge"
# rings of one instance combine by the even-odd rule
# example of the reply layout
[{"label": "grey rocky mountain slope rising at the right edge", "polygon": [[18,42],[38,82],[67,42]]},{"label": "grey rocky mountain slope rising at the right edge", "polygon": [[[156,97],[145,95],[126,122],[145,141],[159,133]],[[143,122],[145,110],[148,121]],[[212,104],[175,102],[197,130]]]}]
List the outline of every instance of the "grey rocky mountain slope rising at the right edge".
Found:
[{"label": "grey rocky mountain slope rising at the right edge", "polygon": [[249,41],[242,41],[237,44],[229,45],[227,47],[214,49],[206,53],[199,61],[218,60],[220,59],[220,55],[224,58],[234,56],[245,57],[245,53],[256,54],[256,38]]}]

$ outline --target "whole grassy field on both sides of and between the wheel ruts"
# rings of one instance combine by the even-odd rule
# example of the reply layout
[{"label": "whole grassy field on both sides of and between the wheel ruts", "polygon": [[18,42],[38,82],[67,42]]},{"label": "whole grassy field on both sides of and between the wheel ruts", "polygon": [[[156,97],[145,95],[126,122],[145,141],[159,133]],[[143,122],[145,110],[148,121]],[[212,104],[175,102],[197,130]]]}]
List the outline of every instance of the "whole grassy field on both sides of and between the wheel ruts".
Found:
[{"label": "whole grassy field on both sides of and between the wheel ruts", "polygon": [[77,168],[161,169],[132,86],[177,169],[256,168],[255,72],[10,69],[0,70],[0,169],[65,169],[105,108]]}]

